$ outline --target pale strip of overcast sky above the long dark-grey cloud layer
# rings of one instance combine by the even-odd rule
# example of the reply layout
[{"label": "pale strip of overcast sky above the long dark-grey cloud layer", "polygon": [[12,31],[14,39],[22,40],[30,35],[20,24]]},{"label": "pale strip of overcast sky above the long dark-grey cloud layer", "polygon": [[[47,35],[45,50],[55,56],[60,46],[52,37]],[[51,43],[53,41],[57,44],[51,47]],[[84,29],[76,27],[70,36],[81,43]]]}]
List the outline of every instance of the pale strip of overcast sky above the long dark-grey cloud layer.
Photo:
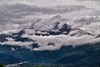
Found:
[{"label": "pale strip of overcast sky above the long dark-grey cloud layer", "polygon": [[0,0],[0,4],[24,3],[36,6],[85,5],[99,9],[100,0]]}]

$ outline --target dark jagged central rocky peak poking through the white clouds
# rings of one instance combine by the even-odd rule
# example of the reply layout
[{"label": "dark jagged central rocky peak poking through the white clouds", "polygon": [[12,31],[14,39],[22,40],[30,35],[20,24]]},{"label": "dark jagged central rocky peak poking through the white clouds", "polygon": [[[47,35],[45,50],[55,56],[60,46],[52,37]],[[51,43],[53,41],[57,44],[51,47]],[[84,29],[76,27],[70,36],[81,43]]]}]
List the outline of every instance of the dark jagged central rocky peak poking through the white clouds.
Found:
[{"label": "dark jagged central rocky peak poking through the white clouds", "polygon": [[35,35],[42,35],[42,36],[48,36],[48,35],[60,35],[60,34],[65,34],[67,35],[71,31],[71,27],[68,26],[66,23],[62,24],[56,24],[52,29],[48,31],[36,31]]}]

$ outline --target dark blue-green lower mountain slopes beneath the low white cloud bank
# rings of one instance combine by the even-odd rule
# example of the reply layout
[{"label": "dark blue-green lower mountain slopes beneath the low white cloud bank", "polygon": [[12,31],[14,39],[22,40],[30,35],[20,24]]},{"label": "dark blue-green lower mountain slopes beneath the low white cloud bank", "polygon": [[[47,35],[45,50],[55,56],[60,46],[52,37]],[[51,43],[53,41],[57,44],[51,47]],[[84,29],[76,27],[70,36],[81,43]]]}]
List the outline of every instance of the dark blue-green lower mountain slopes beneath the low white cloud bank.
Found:
[{"label": "dark blue-green lower mountain slopes beneath the low white cloud bank", "polygon": [[[9,56],[2,58],[3,64],[17,63],[21,62],[24,64],[34,65],[44,65],[44,66],[53,66],[53,65],[64,65],[64,66],[99,66],[99,52],[100,52],[100,43],[96,44],[84,44],[82,46],[72,47],[62,47],[60,50],[56,51],[30,51],[26,48],[18,46],[0,46],[0,52],[3,52],[2,55],[10,57],[16,57],[14,59]],[[11,48],[15,50],[11,50]],[[6,49],[6,50],[5,50]],[[18,53],[17,53],[18,52]],[[2,56],[0,54],[0,57]],[[21,57],[20,57],[21,56]],[[4,61],[5,60],[5,61]],[[12,60],[12,61],[9,61]]]}]

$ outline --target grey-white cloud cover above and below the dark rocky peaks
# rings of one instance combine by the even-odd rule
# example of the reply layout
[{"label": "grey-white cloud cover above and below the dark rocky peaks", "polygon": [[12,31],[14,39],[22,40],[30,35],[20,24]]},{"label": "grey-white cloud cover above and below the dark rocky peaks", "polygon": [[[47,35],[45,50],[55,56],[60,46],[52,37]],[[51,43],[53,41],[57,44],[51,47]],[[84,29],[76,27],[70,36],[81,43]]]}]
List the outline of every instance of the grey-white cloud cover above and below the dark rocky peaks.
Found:
[{"label": "grey-white cloud cover above and below the dark rocky peaks", "polygon": [[[39,28],[39,30],[42,28],[48,30],[57,21],[56,19],[51,21],[51,17],[58,14],[61,15],[61,18],[66,19],[64,21],[64,19],[60,18],[64,23],[68,23],[73,28],[80,28],[95,36],[100,34],[100,18],[97,18],[96,14],[99,15],[100,12],[99,9],[95,9],[95,7],[99,8],[99,6],[95,5],[94,2],[87,0],[84,2],[76,0],[0,0],[0,4],[0,31],[6,30],[7,32],[12,29],[29,28],[31,24],[34,24],[33,27]],[[57,7],[52,8],[52,6]],[[88,7],[89,9],[87,9]],[[91,20],[92,15],[95,15],[95,18]],[[36,22],[38,19],[41,20]],[[59,22],[63,23],[62,21]],[[62,46],[99,42],[100,39],[87,34],[81,36],[30,36],[26,34],[25,37],[38,43],[39,47],[32,50],[57,50]],[[10,41],[1,44],[18,45],[31,49],[29,45],[32,43]],[[54,45],[48,45],[48,43],[54,43]]]}]

